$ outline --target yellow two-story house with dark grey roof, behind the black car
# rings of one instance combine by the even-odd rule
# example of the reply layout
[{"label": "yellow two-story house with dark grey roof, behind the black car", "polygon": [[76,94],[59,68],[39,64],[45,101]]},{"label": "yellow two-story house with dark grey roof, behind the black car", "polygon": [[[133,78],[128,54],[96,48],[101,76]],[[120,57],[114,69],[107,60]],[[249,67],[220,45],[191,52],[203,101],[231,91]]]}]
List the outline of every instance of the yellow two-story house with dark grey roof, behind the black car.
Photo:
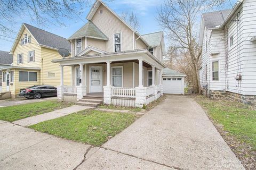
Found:
[{"label": "yellow two-story house with dark grey roof, behind the black car", "polygon": [[[20,89],[34,85],[60,85],[60,66],[52,60],[61,59],[59,48],[71,51],[66,38],[23,23],[12,46],[13,64],[3,71],[2,91],[15,98]],[[71,69],[65,68],[65,84],[71,84]]]}]

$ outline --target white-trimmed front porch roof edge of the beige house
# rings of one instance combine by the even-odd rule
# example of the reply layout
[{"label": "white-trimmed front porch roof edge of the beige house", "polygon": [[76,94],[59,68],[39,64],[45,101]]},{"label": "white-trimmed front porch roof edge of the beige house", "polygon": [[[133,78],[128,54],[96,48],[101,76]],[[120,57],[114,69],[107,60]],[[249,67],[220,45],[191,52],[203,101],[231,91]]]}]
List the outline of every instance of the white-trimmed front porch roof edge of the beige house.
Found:
[{"label": "white-trimmed front porch roof edge of the beige house", "polygon": [[143,59],[143,57],[149,57],[147,58],[148,60],[145,61],[149,64],[154,65],[153,62],[156,62],[157,64],[159,64],[159,67],[165,67],[164,64],[159,61],[153,54],[151,54],[147,49],[127,50],[118,53],[105,53],[88,56],[66,57],[58,60],[52,60],[52,62],[60,63],[61,65],[70,65],[78,63],[100,63],[106,61],[129,61]]}]

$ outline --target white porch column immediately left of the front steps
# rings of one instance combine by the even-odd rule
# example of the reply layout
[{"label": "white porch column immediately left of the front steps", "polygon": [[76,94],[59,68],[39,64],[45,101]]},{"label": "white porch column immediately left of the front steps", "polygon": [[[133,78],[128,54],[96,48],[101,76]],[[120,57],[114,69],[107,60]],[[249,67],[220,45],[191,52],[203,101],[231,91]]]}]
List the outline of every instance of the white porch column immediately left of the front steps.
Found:
[{"label": "white porch column immediately left of the front steps", "polygon": [[86,86],[85,86],[85,81],[84,81],[84,64],[79,64],[80,65],[80,80],[81,83],[79,83],[79,86],[76,87],[76,97],[77,101],[81,100],[84,98],[86,95]]}]

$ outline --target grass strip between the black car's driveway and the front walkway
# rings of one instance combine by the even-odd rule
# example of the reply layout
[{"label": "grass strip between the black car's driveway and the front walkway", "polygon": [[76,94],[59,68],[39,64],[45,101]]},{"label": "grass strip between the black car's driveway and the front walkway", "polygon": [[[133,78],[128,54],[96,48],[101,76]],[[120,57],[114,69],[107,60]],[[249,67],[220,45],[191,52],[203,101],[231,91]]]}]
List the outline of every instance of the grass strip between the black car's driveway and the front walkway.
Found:
[{"label": "grass strip between the black car's driveway and the front walkway", "polygon": [[56,109],[69,107],[71,105],[73,104],[57,100],[48,100],[31,104],[0,107],[0,120],[13,122],[22,118],[52,112]]}]

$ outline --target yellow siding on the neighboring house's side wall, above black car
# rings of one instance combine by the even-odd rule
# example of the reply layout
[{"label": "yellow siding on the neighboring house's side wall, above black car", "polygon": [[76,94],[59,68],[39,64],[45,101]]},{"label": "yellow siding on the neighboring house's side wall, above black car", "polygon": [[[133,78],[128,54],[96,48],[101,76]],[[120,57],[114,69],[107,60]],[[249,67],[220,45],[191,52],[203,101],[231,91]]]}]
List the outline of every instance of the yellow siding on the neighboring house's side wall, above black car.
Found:
[{"label": "yellow siding on the neighboring house's side wall, above black car", "polygon": [[[60,85],[60,65],[58,63],[52,63],[52,60],[60,58],[62,57],[57,50],[42,47],[42,84],[48,84],[52,86]],[[49,72],[55,73],[55,78],[49,78]],[[71,85],[71,69],[69,66],[64,67],[64,84]]]}]

